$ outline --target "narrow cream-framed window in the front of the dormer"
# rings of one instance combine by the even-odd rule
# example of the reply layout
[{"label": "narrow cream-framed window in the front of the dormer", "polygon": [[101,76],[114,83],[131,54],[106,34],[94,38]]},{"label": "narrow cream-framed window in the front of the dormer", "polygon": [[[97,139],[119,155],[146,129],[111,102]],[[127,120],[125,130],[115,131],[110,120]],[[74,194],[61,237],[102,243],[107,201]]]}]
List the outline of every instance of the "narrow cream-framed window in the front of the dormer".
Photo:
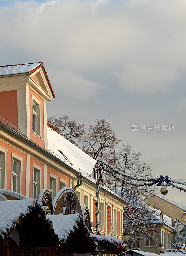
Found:
[{"label": "narrow cream-framed window in the front of the dormer", "polygon": [[41,127],[40,127],[40,102],[32,95],[32,123],[33,123],[33,132],[38,134],[39,136],[41,135]]}]

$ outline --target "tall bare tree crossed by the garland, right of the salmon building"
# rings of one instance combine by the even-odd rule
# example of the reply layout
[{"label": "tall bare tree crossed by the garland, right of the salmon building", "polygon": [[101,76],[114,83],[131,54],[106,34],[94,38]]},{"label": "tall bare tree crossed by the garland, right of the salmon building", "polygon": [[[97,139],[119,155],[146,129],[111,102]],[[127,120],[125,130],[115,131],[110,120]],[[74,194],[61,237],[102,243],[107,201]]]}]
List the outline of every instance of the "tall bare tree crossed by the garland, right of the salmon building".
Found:
[{"label": "tall bare tree crossed by the garland, right of the salmon building", "polygon": [[[127,142],[118,150],[115,169],[136,178],[152,177],[151,165],[142,161],[141,153],[135,152],[134,148]],[[123,228],[129,233],[129,244],[140,243],[140,240],[150,239],[150,242],[156,244],[157,236],[157,212],[156,209],[148,206],[144,200],[154,194],[155,188],[152,186],[136,186],[130,182],[129,177],[123,177],[122,174],[113,178],[111,171],[102,171],[102,177],[106,185],[115,193],[123,197],[128,206],[124,207]],[[122,179],[120,179],[122,178]],[[124,179],[123,179],[124,178]],[[125,182],[128,181],[128,184]],[[135,183],[140,183],[136,181]],[[136,242],[137,241],[137,242]]]}]

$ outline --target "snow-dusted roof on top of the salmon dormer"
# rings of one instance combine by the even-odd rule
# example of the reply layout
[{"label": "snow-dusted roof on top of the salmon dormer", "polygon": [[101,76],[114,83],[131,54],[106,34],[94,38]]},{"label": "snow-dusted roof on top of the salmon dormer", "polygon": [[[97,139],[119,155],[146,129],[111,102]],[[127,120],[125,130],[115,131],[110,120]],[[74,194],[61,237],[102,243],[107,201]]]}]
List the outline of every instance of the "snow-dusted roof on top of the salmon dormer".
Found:
[{"label": "snow-dusted roof on top of the salmon dormer", "polygon": [[40,64],[42,62],[0,66],[0,76],[28,73]]}]

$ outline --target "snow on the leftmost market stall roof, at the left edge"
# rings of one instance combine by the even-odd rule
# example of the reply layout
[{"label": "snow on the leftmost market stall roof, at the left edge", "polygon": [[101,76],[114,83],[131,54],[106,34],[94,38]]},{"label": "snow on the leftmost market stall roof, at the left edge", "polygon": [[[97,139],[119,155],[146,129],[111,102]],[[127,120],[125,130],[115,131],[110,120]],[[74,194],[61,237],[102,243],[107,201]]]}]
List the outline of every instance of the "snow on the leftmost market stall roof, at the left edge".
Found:
[{"label": "snow on the leftmost market stall roof, at the left edge", "polygon": [[36,199],[0,201],[0,238],[7,236],[18,218],[23,219],[27,213],[35,209],[35,205],[42,208]]}]

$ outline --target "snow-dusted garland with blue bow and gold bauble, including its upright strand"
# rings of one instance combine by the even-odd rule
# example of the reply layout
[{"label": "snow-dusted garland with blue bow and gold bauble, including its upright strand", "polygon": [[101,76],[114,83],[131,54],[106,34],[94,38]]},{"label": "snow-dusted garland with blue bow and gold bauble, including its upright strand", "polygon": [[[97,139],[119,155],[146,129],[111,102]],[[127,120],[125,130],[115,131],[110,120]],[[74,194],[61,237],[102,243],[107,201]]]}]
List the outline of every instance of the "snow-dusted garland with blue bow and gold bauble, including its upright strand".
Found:
[{"label": "snow-dusted garland with blue bow and gold bauble, including its upright strand", "polygon": [[[160,175],[160,177],[158,177],[158,178],[134,177],[134,176],[128,175],[128,174],[126,174],[126,173],[124,173],[122,171],[118,171],[118,170],[114,169],[114,167],[112,165],[107,164],[102,159],[98,159],[98,161],[97,161],[97,169],[96,169],[96,172],[97,172],[97,181],[96,181],[96,184],[97,184],[97,191],[96,191],[97,200],[96,200],[96,213],[95,213],[95,215],[96,215],[96,234],[99,234],[99,230],[98,230],[98,225],[99,225],[99,220],[98,220],[99,207],[98,206],[99,206],[99,200],[100,200],[99,199],[100,170],[103,170],[105,173],[108,173],[108,174],[112,175],[118,181],[122,181],[125,184],[130,184],[130,185],[134,185],[134,186],[137,186],[137,187],[152,186],[154,184],[157,184],[156,186],[162,186],[160,192],[163,195],[167,195],[167,193],[168,193],[167,186],[172,186],[173,188],[177,188],[177,189],[180,190],[180,192],[181,191],[186,192],[186,188],[178,186],[178,185],[186,186],[186,182],[181,182],[181,181],[178,181],[178,180],[173,180],[173,179],[169,178],[168,175],[166,175],[165,177]],[[133,180],[133,181],[126,180],[125,178]],[[136,183],[135,181],[142,181],[142,182]],[[176,184],[178,184],[178,185],[176,185]]]}]

